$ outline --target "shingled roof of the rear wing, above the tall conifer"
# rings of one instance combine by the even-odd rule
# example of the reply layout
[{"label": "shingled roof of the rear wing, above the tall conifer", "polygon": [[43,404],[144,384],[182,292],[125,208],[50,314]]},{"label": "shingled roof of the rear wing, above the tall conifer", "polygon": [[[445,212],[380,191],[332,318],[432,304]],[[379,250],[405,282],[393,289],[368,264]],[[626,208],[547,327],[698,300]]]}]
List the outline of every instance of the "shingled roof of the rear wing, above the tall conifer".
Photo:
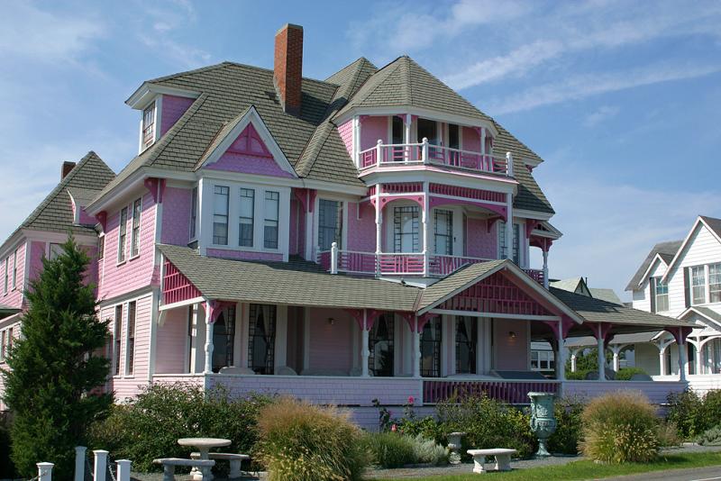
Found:
[{"label": "shingled roof of the rear wing, above the tall conifer", "polygon": [[73,207],[68,191],[85,199],[94,197],[114,177],[113,169],[107,167],[103,159],[92,150],[87,152],[10,237],[21,229],[95,235],[93,226],[73,223]]}]

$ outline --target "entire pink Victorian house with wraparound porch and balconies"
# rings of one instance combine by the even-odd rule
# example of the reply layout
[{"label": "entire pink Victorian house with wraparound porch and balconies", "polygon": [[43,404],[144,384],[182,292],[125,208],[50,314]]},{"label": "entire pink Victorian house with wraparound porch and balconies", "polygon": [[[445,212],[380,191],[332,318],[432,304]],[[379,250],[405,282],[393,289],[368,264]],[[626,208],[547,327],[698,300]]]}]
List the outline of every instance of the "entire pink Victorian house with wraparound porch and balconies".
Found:
[{"label": "entire pink Victorian house with wraparound porch and balconies", "polygon": [[[102,186],[66,189],[73,206],[91,199],[76,217],[96,224],[119,400],[182,380],[353,406],[360,420],[374,398],[522,404],[530,390],[613,385],[564,381],[569,336],[685,340],[688,322],[548,288],[561,232],[534,180],[543,159],[494,119],[408,57],[315,80],[302,56],[303,29],[286,25],[273,69],[224,62],[144,82],[126,102],[138,156]],[[32,266],[35,238],[13,239],[0,269],[15,245]],[[552,379],[530,368],[536,339],[556,346]],[[657,402],[684,386],[634,384]]]}]

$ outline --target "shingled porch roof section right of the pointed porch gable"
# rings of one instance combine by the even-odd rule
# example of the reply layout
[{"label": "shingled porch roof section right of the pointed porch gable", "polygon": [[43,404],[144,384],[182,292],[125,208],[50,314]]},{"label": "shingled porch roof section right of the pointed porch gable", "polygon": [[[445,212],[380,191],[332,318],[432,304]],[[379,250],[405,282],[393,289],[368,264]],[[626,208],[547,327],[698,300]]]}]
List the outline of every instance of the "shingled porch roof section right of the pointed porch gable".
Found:
[{"label": "shingled porch roof section right of the pointed porch gable", "polygon": [[574,294],[555,287],[551,287],[550,290],[552,295],[561,299],[563,304],[579,313],[586,321],[615,324],[615,332],[660,331],[667,327],[696,327],[693,322],[647,313],[587,295]]}]

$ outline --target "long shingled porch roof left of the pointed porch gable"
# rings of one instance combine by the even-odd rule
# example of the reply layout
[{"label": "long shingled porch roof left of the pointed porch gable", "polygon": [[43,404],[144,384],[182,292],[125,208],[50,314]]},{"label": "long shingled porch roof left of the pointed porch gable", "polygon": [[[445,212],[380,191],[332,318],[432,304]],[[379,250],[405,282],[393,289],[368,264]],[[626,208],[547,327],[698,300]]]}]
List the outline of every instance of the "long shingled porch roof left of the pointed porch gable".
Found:
[{"label": "long shingled porch roof left of the pointed porch gable", "polygon": [[412,312],[421,289],[370,277],[332,275],[313,262],[260,262],[158,249],[208,299]]}]

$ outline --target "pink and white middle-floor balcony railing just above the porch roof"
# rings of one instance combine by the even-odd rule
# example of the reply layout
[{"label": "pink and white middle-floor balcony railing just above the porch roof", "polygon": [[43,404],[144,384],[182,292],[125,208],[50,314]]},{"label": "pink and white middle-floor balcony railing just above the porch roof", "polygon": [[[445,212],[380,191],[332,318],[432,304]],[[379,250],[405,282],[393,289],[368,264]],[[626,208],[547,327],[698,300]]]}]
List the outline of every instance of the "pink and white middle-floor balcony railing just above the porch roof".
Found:
[{"label": "pink and white middle-floor balcony railing just above the porch roof", "polygon": [[[427,257],[427,262],[426,258]],[[421,252],[358,252],[353,250],[323,250],[318,263],[332,274],[339,272],[376,277],[446,277],[467,264],[495,259],[442,256]],[[525,273],[544,286],[541,269],[524,269]]]}]

